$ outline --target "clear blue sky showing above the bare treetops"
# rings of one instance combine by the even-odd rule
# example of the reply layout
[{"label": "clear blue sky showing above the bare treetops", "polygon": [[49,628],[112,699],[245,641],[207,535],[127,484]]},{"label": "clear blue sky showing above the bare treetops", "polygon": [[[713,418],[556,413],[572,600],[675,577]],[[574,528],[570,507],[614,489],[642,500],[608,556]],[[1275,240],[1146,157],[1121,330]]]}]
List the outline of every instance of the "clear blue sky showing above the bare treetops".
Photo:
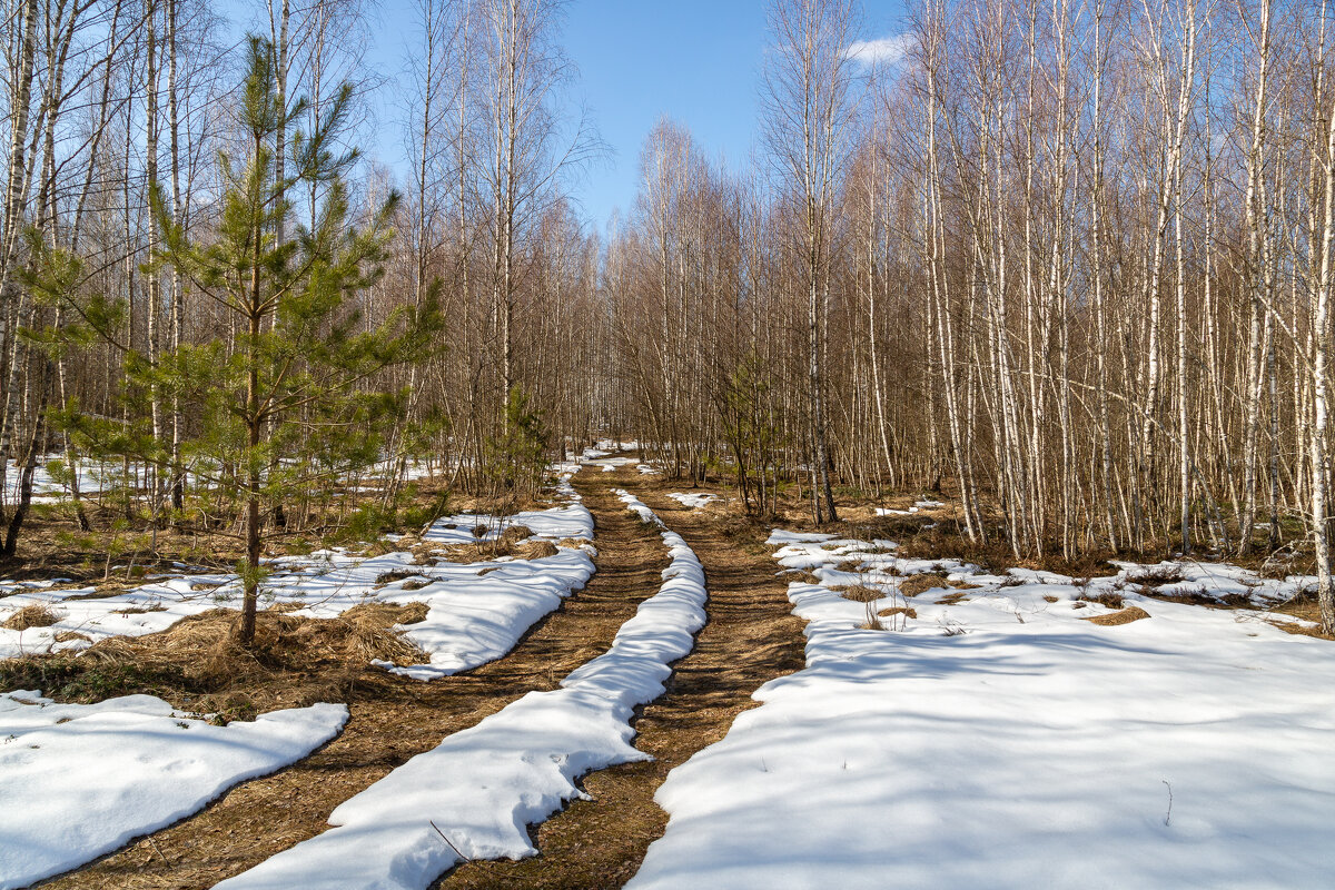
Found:
[{"label": "clear blue sky showing above the bare treetops", "polygon": [[[254,5],[251,5],[254,4]],[[263,15],[256,0],[223,0],[234,23]],[[414,44],[411,0],[379,5],[368,61],[395,77]],[[764,0],[570,0],[562,43],[579,69],[574,96],[589,107],[609,157],[575,184],[590,223],[627,211],[638,185],[639,149],[661,115],[685,124],[704,149],[730,165],[748,163],[757,132],[757,85],[768,43]],[[864,39],[902,31],[902,0],[864,0]],[[405,168],[396,103],[380,108],[370,155]]]}]

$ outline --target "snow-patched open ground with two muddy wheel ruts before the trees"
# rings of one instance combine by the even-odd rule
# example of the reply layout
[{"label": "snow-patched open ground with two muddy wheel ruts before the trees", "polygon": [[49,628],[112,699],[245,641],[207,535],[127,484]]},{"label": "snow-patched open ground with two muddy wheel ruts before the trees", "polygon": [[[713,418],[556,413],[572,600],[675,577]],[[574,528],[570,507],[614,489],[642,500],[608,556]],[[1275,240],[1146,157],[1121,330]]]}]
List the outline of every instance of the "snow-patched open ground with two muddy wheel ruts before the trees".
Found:
[{"label": "snow-patched open ground with two muddy wheel ruts before the trees", "polygon": [[[583,464],[550,508],[284,558],[256,663],[224,646],[235,579],[12,582],[0,620],[36,620],[4,631],[7,675],[104,701],[0,697],[0,827],[23,838],[0,887],[1292,887],[1335,867],[1335,660],[1275,608],[1304,579],[989,571],[856,523],[760,526],[633,455]],[[134,763],[97,753],[108,731]]]}]

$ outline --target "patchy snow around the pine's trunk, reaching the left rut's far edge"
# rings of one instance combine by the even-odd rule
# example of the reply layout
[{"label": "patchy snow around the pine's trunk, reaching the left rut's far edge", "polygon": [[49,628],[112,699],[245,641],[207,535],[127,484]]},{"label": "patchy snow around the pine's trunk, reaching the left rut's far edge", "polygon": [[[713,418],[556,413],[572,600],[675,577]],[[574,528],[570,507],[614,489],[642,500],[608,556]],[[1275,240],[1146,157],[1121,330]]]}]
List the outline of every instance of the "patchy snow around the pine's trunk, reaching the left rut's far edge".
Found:
[{"label": "patchy snow around the pine's trunk, reaching the left rut's far edge", "polygon": [[[593,515],[573,503],[513,516],[458,515],[437,520],[423,535],[429,544],[478,540],[473,528],[487,528],[482,540],[510,526],[526,526],[535,538],[587,540]],[[426,664],[392,667],[417,679],[446,677],[499,658],[534,622],[579,590],[593,575],[593,547],[559,547],[554,556],[457,564],[431,559],[419,566],[411,552],[356,556],[322,550],[308,556],[270,560],[274,574],[262,587],[262,607],[302,606],[303,618],[335,618],[362,603],[426,603],[426,620],[400,627],[403,635],[430,654]],[[407,575],[380,583],[386,575]],[[411,590],[410,590],[411,587]],[[59,615],[49,627],[24,631],[0,628],[0,658],[79,650],[108,636],[139,636],[163,631],[190,615],[242,606],[240,580],[234,574],[182,571],[154,579],[108,598],[79,599],[92,587],[29,588],[0,599],[0,623],[24,606],[45,606]],[[80,636],[68,636],[79,634]],[[64,635],[63,642],[57,635]]]}]

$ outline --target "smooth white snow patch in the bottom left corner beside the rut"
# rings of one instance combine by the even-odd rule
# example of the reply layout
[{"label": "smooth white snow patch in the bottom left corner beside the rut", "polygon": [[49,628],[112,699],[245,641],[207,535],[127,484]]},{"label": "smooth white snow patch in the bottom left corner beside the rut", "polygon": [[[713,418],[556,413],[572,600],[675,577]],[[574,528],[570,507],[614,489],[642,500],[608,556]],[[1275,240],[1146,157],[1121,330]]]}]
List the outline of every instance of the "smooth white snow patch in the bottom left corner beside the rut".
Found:
[{"label": "smooth white snow patch in the bottom left corner beside the rut", "polygon": [[0,694],[0,890],[77,867],[338,735],[342,705],[212,726],[151,695]]}]

